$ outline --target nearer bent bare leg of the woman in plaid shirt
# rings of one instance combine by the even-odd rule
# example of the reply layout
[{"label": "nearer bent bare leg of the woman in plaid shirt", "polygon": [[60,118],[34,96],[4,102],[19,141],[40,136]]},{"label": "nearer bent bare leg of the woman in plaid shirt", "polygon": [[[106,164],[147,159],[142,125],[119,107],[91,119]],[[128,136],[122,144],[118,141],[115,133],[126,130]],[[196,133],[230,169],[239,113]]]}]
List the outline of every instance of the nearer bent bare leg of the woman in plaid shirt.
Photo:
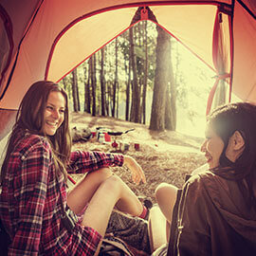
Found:
[{"label": "nearer bent bare leg of the woman in plaid shirt", "polygon": [[101,236],[104,236],[110,214],[118,202],[122,207],[121,210],[130,214],[135,213],[132,207],[135,203],[134,198],[127,196],[127,194],[130,194],[129,191],[127,192],[127,186],[117,175],[107,178],[92,196],[85,211],[82,225],[96,229]]}]

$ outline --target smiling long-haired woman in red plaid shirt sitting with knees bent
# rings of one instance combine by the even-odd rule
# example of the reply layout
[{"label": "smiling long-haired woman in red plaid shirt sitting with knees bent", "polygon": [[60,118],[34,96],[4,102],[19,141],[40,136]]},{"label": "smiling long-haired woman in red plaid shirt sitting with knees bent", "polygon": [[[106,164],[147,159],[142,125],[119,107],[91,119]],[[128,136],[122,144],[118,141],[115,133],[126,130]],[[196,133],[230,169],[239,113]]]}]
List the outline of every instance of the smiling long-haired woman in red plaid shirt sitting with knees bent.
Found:
[{"label": "smiling long-haired woman in red plaid shirt sitting with knees bent", "polygon": [[[137,184],[145,182],[132,157],[71,152],[64,89],[54,82],[33,83],[1,170],[0,217],[11,240],[9,255],[97,255],[114,207],[140,217],[146,212],[108,168],[124,164]],[[88,174],[67,193],[67,172]]]}]

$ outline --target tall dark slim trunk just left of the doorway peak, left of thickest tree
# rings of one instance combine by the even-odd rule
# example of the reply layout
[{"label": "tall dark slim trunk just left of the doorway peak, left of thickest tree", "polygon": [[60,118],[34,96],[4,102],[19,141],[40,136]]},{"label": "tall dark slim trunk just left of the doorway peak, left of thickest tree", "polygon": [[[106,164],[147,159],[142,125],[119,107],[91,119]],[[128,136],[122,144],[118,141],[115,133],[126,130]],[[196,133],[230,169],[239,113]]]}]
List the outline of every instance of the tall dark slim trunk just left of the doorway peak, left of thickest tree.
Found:
[{"label": "tall dark slim trunk just left of the doorway peak, left of thickest tree", "polygon": [[130,40],[130,58],[133,69],[133,90],[132,90],[132,108],[131,121],[139,122],[139,108],[140,108],[140,91],[137,82],[137,57],[135,55],[135,41],[134,41],[134,27],[129,29]]}]

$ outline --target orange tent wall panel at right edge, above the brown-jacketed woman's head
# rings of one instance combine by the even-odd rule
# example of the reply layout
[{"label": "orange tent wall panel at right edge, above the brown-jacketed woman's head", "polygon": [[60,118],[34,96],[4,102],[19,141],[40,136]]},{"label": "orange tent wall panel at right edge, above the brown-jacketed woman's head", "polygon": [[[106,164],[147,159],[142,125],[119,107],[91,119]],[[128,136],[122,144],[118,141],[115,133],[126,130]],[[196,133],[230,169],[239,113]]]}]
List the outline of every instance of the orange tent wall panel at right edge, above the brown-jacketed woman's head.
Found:
[{"label": "orange tent wall panel at right edge, above the brown-jacketed woman's head", "polygon": [[[255,10],[254,1],[254,13]],[[256,17],[248,15],[238,2],[233,27],[232,89],[242,100],[256,102]]]}]

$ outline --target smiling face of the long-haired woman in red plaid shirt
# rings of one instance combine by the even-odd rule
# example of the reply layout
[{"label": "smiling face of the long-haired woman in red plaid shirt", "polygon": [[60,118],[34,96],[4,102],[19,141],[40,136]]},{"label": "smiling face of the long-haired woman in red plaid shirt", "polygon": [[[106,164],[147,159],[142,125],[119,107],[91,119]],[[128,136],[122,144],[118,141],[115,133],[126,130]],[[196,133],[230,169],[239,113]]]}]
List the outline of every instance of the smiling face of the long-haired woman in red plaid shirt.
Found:
[{"label": "smiling face of the long-haired woman in red plaid shirt", "polygon": [[64,121],[65,99],[61,92],[52,91],[46,101],[44,132],[54,136]]}]

